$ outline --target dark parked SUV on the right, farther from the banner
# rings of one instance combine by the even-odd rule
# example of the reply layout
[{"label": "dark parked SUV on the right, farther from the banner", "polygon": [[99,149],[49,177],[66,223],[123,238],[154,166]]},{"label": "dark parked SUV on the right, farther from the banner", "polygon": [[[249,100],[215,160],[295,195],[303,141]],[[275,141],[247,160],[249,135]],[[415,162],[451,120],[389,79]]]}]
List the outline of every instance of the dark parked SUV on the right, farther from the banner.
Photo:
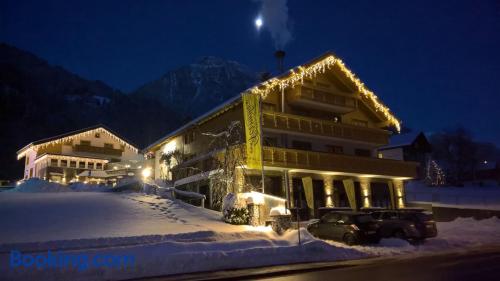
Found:
[{"label": "dark parked SUV on the right, farther from the banner", "polygon": [[379,223],[381,237],[397,237],[407,240],[424,240],[437,236],[432,215],[420,211],[375,211],[372,217]]}]

